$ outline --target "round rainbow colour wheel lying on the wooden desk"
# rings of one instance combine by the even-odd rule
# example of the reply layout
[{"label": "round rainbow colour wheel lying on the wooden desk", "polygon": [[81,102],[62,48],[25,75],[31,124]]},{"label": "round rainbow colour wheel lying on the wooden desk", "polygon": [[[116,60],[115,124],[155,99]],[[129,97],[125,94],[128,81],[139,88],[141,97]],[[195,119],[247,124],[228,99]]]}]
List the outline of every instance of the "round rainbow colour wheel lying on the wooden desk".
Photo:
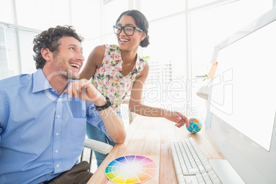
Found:
[{"label": "round rainbow colour wheel lying on the wooden desk", "polygon": [[157,172],[152,159],[138,155],[119,157],[106,166],[105,174],[115,183],[141,183]]}]

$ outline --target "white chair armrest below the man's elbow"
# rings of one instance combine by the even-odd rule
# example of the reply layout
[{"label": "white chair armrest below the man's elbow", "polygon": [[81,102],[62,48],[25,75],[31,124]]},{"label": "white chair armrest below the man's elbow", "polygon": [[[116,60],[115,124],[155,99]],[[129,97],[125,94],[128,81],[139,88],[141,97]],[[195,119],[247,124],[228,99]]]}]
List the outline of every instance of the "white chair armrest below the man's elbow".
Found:
[{"label": "white chair armrest below the man's elbow", "polygon": [[102,154],[108,154],[108,152],[111,152],[113,146],[103,143],[100,141],[96,141],[93,139],[85,139],[84,140],[84,147],[89,148],[91,150],[95,150],[96,152],[100,152]]}]

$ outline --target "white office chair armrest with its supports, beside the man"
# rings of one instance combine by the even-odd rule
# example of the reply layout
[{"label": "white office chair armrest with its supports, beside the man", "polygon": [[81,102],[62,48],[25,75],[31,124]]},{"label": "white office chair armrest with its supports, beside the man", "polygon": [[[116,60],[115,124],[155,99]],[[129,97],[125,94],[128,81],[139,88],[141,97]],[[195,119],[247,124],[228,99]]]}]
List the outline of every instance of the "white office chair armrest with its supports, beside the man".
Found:
[{"label": "white office chair armrest with its supports, beside the man", "polygon": [[[84,148],[89,148],[90,149],[90,157],[89,157],[89,164],[91,168],[92,164],[92,156],[93,156],[93,150],[100,152],[102,154],[108,154],[108,152],[111,152],[113,146],[109,145],[108,143],[103,143],[100,141],[96,141],[94,139],[85,139],[84,140]],[[82,157],[84,154],[84,149],[82,150],[82,155],[80,157],[80,161],[82,161]],[[89,169],[90,171],[90,169]]]}]

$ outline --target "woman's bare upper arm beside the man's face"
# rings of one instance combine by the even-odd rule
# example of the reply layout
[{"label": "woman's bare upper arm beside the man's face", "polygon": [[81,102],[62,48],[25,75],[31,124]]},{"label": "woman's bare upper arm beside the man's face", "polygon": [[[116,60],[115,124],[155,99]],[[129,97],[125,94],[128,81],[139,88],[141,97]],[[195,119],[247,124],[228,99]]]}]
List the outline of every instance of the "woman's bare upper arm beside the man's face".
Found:
[{"label": "woman's bare upper arm beside the man's face", "polygon": [[100,68],[102,65],[102,60],[104,59],[105,46],[99,45],[95,47],[89,57],[87,58],[87,63],[80,73],[80,79],[85,78],[90,80],[94,76],[96,69]]}]

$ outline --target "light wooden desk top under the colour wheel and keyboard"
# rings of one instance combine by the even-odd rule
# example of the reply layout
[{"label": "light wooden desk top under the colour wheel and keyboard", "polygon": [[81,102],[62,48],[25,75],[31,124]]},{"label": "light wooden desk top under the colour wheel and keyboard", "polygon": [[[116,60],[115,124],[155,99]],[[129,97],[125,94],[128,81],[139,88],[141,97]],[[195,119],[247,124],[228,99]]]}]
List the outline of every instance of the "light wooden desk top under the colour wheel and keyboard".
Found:
[{"label": "light wooden desk top under the colour wheel and keyboard", "polygon": [[88,183],[113,184],[113,181],[109,181],[104,174],[106,165],[113,159],[130,154],[149,157],[157,163],[157,173],[152,179],[143,183],[177,183],[170,141],[183,140],[189,137],[195,139],[207,159],[225,159],[209,141],[203,130],[197,134],[190,134],[185,126],[176,128],[174,123],[164,118],[137,115],[126,133],[126,141],[123,144],[115,145]]}]

